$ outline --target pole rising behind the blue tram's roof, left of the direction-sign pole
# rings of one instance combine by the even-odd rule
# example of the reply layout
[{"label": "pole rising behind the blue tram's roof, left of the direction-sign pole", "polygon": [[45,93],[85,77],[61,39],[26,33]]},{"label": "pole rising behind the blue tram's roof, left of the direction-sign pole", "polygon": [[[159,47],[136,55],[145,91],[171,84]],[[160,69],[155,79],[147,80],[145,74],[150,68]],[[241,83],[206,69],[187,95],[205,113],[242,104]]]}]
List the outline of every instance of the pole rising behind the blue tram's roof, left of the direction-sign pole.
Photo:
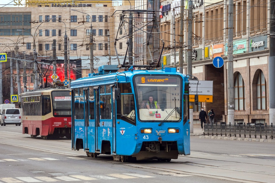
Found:
[{"label": "pole rising behind the blue tram's roof, left of the direction-sign pole", "polygon": [[[179,72],[183,73],[183,13],[184,2],[181,0],[181,15],[180,15],[180,44],[179,44]],[[191,125],[190,125],[191,126]]]}]

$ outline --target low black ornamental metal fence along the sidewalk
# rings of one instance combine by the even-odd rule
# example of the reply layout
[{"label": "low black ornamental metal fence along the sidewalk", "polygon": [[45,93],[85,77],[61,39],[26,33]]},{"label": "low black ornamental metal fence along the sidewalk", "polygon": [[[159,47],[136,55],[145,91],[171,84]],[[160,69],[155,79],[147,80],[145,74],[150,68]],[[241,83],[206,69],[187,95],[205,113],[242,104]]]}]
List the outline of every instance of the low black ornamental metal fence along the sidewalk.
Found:
[{"label": "low black ornamental metal fence along the sidewalk", "polygon": [[[224,123],[224,122],[223,122]],[[204,124],[204,135],[229,135],[230,137],[234,135],[237,137],[239,135],[244,135],[244,138],[246,136],[254,136],[257,138],[257,136],[265,136],[267,139],[267,136],[269,136],[271,139],[275,136],[275,126],[271,123],[271,125],[266,125],[266,124],[217,124],[217,123],[212,123],[210,124],[209,122],[207,124]]]}]

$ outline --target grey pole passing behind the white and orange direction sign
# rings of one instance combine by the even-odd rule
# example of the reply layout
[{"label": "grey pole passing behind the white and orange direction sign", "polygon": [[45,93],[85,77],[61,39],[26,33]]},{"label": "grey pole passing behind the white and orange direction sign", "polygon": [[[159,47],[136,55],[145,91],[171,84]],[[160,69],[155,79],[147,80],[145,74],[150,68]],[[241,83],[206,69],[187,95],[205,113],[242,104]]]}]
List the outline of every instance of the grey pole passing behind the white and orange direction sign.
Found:
[{"label": "grey pole passing behind the white and orange direction sign", "polygon": [[[193,1],[188,1],[188,47],[186,52],[187,74],[192,75]],[[193,103],[189,103],[190,133],[193,133]]]}]

